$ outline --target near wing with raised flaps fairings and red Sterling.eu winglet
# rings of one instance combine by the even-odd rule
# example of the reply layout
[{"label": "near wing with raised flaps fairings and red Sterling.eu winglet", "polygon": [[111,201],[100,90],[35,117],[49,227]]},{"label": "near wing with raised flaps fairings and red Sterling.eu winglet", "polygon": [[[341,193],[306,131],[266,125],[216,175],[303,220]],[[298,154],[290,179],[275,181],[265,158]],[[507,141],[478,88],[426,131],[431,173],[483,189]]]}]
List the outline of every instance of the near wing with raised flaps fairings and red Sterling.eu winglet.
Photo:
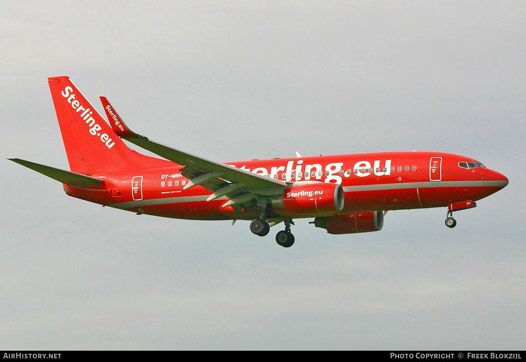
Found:
[{"label": "near wing with raised flaps fairings and red Sterling.eu winglet", "polygon": [[185,185],[185,189],[201,185],[213,193],[208,198],[209,200],[226,195],[230,201],[224,206],[229,206],[249,202],[261,195],[276,195],[288,187],[283,180],[254,174],[244,169],[153,142],[147,137],[131,131],[106,97],[100,97],[100,100],[103,103],[110,125],[119,137],[179,165],[186,166],[181,169],[183,176],[190,179],[190,182]]}]

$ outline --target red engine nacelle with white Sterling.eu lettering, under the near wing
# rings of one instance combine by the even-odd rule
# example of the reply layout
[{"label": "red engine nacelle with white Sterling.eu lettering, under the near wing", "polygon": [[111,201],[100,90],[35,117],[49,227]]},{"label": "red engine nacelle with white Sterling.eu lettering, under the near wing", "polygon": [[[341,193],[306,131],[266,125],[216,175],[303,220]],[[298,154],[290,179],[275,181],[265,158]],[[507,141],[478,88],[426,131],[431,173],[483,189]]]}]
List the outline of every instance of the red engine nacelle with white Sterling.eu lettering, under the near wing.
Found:
[{"label": "red engine nacelle with white Sterling.eu lettering, under the near wing", "polygon": [[323,215],[343,209],[343,188],[338,184],[310,183],[286,188],[271,200],[272,206],[288,214]]}]

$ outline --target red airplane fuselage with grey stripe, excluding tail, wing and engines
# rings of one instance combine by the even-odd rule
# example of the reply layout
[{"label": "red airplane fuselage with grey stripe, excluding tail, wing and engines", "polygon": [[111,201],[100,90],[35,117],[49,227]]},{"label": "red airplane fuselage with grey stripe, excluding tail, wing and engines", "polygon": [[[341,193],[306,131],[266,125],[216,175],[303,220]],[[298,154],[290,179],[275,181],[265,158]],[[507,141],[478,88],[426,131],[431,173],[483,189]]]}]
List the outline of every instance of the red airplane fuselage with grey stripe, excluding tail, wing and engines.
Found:
[{"label": "red airplane fuselage with grey stripe, excluding tail, wing and engines", "polygon": [[[468,165],[465,167],[465,165]],[[345,204],[338,214],[357,211],[444,207],[479,200],[508,184],[508,179],[469,157],[436,152],[383,152],[228,162],[227,165],[285,180],[338,183]],[[475,164],[480,166],[475,166]],[[206,201],[211,194],[195,186],[184,190],[184,166],[152,159],[151,168],[93,175],[102,187],[64,184],[70,196],[136,213],[196,220],[254,219],[257,207],[236,212],[222,207],[226,197]],[[471,168],[469,168],[471,167]],[[308,215],[280,212],[281,217]]]}]

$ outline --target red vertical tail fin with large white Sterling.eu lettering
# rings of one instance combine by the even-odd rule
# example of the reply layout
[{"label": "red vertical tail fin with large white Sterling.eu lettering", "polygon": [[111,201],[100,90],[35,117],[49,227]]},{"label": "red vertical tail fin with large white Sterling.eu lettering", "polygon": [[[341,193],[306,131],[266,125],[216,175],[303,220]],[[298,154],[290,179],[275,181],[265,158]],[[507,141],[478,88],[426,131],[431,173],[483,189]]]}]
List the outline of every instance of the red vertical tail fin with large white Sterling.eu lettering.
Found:
[{"label": "red vertical tail fin with large white Sterling.eu lettering", "polygon": [[48,82],[73,172],[93,175],[165,164],[130,149],[69,77],[52,77]]}]

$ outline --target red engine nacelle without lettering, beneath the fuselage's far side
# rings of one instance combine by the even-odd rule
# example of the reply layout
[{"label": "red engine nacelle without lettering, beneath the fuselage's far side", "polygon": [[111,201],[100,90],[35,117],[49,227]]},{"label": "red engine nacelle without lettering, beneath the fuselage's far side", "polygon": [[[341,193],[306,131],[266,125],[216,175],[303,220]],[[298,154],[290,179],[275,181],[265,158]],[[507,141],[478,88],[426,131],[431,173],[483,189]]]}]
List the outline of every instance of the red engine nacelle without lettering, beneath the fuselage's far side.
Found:
[{"label": "red engine nacelle without lettering, beneath the fuselage's far side", "polygon": [[316,227],[327,229],[329,234],[355,234],[377,232],[383,226],[383,212],[368,211],[345,215],[317,217],[314,219]]}]

